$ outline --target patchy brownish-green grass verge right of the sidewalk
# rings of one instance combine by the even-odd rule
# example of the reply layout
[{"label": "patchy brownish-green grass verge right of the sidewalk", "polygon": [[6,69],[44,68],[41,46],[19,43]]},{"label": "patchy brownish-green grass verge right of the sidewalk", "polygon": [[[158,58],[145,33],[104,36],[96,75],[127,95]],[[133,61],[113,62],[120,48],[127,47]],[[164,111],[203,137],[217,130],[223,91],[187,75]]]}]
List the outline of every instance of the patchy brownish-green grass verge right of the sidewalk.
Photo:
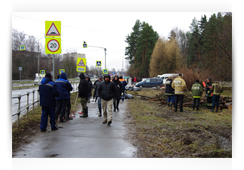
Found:
[{"label": "patchy brownish-green grass verge right of the sidewalk", "polygon": [[[150,97],[158,93],[146,90],[132,93]],[[184,107],[186,112],[174,112],[136,96],[128,109],[136,126],[138,157],[232,157],[232,110],[216,113]]]}]

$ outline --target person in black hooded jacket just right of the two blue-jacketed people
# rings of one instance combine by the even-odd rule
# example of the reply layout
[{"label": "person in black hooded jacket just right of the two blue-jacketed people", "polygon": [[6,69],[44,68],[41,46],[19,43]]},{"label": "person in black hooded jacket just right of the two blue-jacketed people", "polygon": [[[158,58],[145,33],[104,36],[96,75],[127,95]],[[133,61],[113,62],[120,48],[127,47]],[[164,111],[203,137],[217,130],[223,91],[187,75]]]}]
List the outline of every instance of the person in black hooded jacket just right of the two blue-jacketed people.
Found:
[{"label": "person in black hooded jacket just right of the two blue-jacketed people", "polygon": [[88,101],[88,81],[85,79],[85,75],[83,73],[80,74],[80,83],[78,86],[79,89],[79,97],[81,98],[81,106],[83,109],[83,114],[80,116],[80,118],[86,118],[88,117],[88,111],[87,111],[87,101]]}]

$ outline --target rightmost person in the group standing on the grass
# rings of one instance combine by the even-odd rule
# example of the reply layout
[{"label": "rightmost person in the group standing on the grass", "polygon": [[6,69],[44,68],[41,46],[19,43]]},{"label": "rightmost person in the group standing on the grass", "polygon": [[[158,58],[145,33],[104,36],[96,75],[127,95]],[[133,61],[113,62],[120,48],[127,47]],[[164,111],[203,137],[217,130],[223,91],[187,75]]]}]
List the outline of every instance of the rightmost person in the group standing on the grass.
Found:
[{"label": "rightmost person in the group standing on the grass", "polygon": [[211,112],[214,111],[214,107],[215,106],[216,106],[216,112],[218,112],[220,93],[223,92],[222,85],[220,85],[219,82],[216,81],[214,84],[212,84],[212,87],[210,88],[210,91],[213,92],[213,98],[212,98],[213,101],[212,101]]}]

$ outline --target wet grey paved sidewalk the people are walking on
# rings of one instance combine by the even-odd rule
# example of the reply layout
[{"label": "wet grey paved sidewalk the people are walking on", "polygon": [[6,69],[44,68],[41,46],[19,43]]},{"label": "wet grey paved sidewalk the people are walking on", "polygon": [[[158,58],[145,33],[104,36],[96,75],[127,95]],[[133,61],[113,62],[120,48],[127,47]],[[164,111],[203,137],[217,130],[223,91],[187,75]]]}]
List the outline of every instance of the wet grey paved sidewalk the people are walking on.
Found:
[{"label": "wet grey paved sidewalk the people are walking on", "polygon": [[[78,99],[80,101],[80,99]],[[119,111],[113,112],[112,124],[102,124],[98,117],[97,103],[88,103],[88,118],[80,118],[81,106],[75,112],[75,118],[59,123],[57,131],[38,131],[31,142],[22,146],[13,158],[131,158],[136,157],[136,148],[129,142],[126,121],[126,105],[129,100],[120,101]]]}]

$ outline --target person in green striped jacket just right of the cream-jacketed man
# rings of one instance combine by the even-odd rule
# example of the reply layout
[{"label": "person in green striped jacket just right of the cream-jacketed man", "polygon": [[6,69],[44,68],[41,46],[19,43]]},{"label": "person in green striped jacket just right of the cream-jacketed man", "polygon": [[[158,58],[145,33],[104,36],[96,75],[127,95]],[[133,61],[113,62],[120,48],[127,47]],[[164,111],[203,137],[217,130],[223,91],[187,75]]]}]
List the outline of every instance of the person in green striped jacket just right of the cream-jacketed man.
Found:
[{"label": "person in green striped jacket just right of the cream-jacketed man", "polygon": [[197,110],[199,110],[200,98],[202,96],[202,85],[199,83],[199,80],[196,80],[196,83],[192,85],[191,92],[193,95],[193,110],[195,110],[195,103],[197,102]]}]

